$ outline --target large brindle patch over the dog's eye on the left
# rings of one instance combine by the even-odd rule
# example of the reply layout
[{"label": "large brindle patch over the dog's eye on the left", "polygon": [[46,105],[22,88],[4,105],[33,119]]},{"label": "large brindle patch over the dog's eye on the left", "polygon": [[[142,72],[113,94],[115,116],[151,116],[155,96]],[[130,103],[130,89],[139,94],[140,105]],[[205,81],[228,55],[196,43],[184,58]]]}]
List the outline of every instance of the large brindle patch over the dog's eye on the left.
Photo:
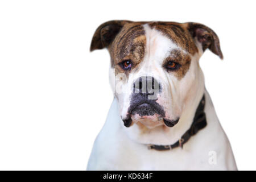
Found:
[{"label": "large brindle patch over the dog's eye on the left", "polygon": [[143,60],[146,46],[146,36],[144,35],[143,24],[145,22],[126,23],[122,30],[109,47],[112,67],[115,73],[128,74],[130,71],[123,70],[118,63],[124,60],[131,60],[132,69],[138,67]]}]

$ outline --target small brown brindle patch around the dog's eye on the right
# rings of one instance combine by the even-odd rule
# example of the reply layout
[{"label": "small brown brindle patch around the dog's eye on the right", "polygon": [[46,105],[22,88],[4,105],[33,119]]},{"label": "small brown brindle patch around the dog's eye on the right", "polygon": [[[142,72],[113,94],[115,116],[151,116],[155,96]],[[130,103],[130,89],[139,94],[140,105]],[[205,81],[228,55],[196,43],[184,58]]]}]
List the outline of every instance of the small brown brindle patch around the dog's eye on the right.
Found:
[{"label": "small brown brindle patch around the dog's eye on the right", "polygon": [[170,55],[163,61],[163,67],[168,63],[168,61],[174,61],[175,63],[181,65],[179,69],[174,71],[170,71],[167,69],[168,72],[174,74],[174,76],[176,76],[180,80],[185,76],[190,67],[191,57],[184,51],[174,49],[170,52]]}]

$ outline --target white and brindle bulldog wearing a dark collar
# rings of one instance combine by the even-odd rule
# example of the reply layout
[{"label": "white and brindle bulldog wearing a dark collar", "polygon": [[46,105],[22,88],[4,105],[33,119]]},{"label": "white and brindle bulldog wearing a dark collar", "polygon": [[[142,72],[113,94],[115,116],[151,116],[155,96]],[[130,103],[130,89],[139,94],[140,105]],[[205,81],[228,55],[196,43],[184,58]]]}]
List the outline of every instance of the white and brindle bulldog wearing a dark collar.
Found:
[{"label": "white and brindle bulldog wearing a dark collar", "polygon": [[237,170],[199,65],[206,49],[223,59],[212,29],[112,20],[93,35],[103,48],[114,100],[88,170]]}]

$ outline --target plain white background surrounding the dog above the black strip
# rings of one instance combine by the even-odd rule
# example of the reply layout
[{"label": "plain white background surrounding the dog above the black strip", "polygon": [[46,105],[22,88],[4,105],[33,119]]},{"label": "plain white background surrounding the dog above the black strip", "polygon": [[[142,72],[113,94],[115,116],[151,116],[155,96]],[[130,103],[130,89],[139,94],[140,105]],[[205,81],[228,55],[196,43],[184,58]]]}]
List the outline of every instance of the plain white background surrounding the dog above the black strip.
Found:
[{"label": "plain white background surrounding the dog above the black strip", "polygon": [[200,22],[224,60],[201,57],[238,169],[255,167],[253,1],[1,1],[0,169],[85,170],[113,95],[109,54],[89,52],[112,19]]}]

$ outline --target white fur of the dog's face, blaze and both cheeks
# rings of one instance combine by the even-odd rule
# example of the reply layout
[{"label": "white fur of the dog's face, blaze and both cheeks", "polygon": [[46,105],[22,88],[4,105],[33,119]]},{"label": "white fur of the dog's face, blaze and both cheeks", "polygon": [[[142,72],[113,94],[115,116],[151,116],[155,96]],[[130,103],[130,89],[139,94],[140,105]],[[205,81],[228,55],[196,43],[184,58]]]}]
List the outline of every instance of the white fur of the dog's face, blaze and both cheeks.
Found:
[{"label": "white fur of the dog's face, blaze and both cheeks", "polygon": [[[131,93],[133,91],[134,81],[142,76],[152,76],[161,85],[162,91],[158,94],[156,102],[161,105],[166,113],[165,117],[169,120],[176,120],[181,117],[182,110],[189,101],[188,97],[196,92],[196,72],[200,72],[197,56],[191,57],[191,65],[186,75],[180,80],[174,76],[172,72],[167,72],[163,67],[164,60],[170,56],[172,50],[177,49],[185,52],[178,47],[168,36],[162,32],[150,28],[144,24],[146,35],[146,48],[144,59],[139,64],[139,67],[126,78],[125,74],[120,78],[114,76],[114,68],[110,69],[112,88],[115,90],[115,97],[119,103],[119,113],[122,119],[127,118],[127,111],[130,107]],[[121,76],[122,77],[122,76]],[[117,92],[118,91],[118,92]],[[134,122],[141,122],[148,128],[163,125],[163,119],[158,114],[146,116],[144,118],[138,115],[131,116]],[[153,122],[153,123],[152,123]],[[157,122],[157,123],[156,123]]]}]

